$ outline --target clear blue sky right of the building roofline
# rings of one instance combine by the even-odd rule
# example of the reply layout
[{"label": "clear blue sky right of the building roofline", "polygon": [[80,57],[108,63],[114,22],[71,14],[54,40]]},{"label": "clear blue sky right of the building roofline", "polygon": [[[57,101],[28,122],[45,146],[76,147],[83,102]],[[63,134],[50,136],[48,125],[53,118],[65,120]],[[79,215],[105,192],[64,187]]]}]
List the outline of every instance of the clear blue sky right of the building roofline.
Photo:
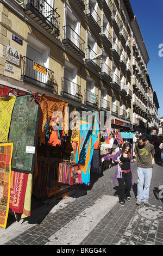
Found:
[{"label": "clear blue sky right of the building roofline", "polygon": [[[130,0],[147,48],[149,78],[163,116],[163,0]],[[160,47],[160,48],[159,48]]]}]

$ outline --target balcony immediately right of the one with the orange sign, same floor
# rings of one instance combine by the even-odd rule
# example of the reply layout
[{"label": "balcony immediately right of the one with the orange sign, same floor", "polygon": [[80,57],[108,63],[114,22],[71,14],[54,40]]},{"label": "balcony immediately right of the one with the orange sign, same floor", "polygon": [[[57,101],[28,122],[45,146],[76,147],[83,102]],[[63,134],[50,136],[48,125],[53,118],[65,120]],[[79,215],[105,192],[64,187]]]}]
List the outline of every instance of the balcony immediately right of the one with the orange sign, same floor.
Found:
[{"label": "balcony immediately right of the one with the orange sign, same floor", "polygon": [[64,77],[61,78],[61,95],[82,102],[81,86]]}]

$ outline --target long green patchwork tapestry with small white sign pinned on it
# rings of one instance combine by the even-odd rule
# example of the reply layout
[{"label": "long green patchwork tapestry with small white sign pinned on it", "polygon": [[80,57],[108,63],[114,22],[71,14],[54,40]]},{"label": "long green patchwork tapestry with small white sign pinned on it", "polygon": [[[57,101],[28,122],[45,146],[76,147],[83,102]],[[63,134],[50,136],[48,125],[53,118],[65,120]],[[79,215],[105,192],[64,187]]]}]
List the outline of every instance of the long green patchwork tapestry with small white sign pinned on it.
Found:
[{"label": "long green patchwork tapestry with small white sign pinned on it", "polygon": [[9,142],[14,144],[11,169],[17,172],[33,173],[39,109],[33,95],[16,97]]}]

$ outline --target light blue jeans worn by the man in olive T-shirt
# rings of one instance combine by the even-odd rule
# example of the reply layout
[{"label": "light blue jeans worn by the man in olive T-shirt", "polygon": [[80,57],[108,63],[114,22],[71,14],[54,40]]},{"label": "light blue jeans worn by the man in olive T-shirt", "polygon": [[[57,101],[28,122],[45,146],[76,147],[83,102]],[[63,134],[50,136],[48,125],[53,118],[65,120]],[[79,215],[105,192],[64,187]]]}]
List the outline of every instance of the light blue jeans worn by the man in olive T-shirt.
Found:
[{"label": "light blue jeans worn by the man in olive T-shirt", "polygon": [[[137,197],[136,199],[140,202],[148,201],[149,198],[149,187],[151,185],[152,168],[140,168],[137,167]],[[143,189],[143,184],[145,187]]]}]

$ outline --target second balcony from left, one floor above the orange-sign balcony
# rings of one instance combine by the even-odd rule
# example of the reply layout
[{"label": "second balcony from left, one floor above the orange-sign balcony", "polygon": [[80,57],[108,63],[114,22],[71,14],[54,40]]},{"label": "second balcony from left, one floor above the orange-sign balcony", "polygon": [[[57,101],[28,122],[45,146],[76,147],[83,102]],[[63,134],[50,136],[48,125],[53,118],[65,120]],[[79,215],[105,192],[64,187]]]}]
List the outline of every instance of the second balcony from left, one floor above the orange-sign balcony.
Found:
[{"label": "second balcony from left, one floor above the orange-sign balcony", "polygon": [[64,39],[62,43],[79,58],[85,57],[85,42],[82,38],[70,27],[64,26]]}]

